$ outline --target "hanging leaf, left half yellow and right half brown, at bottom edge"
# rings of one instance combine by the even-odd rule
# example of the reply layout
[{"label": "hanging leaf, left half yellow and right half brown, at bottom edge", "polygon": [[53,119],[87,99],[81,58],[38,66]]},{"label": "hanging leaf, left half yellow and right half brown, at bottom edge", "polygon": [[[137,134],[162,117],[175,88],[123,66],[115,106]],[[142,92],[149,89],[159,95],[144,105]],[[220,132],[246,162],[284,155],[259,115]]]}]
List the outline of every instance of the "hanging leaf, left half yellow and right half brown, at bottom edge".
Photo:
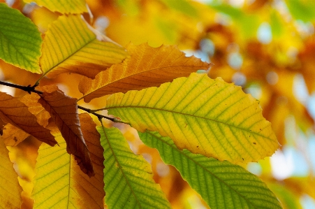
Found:
[{"label": "hanging leaf, left half yellow and right half brown, at bottom edge", "polygon": [[[80,115],[87,138],[95,176],[89,178],[66,152],[66,142],[59,135],[59,146],[41,145],[38,150],[32,198],[35,208],[103,208],[103,148],[96,124],[89,115]],[[83,127],[83,126],[82,126]]]}]

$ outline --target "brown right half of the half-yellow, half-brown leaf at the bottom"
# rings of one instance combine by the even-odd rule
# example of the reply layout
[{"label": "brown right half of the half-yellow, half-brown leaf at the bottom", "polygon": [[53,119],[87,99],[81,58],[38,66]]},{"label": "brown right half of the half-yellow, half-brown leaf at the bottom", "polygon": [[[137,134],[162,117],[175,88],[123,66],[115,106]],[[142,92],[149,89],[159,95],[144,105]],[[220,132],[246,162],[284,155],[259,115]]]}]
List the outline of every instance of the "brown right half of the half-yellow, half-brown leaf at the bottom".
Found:
[{"label": "brown right half of the half-yellow, half-brown leaf at the bottom", "polygon": [[89,153],[91,156],[91,161],[93,162],[95,175],[91,178],[87,177],[87,175],[82,175],[80,174],[82,172],[80,171],[80,168],[78,168],[77,165],[71,164],[71,168],[73,168],[73,170],[75,171],[73,172],[74,175],[72,178],[75,179],[75,182],[80,182],[80,187],[84,185],[84,187],[82,187],[82,189],[78,189],[77,192],[80,194],[80,196],[85,197],[85,202],[87,203],[89,208],[104,208],[104,150],[101,146],[101,136],[98,131],[96,131],[96,124],[91,119],[91,116],[88,113],[80,114],[79,119],[82,127],[82,134],[85,137],[85,142],[87,143],[87,147],[89,148]]}]

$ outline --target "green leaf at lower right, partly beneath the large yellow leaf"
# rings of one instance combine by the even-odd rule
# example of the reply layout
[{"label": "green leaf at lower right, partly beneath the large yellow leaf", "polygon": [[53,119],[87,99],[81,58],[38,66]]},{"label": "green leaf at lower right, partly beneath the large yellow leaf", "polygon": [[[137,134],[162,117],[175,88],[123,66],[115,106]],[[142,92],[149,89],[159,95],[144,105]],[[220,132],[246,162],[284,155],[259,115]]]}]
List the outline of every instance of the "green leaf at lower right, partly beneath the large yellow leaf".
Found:
[{"label": "green leaf at lower right, partly beneath the large yellow leaf", "polygon": [[241,166],[178,150],[171,138],[156,131],[138,134],[145,145],[159,150],[166,164],[180,171],[210,208],[282,208],[267,185]]}]

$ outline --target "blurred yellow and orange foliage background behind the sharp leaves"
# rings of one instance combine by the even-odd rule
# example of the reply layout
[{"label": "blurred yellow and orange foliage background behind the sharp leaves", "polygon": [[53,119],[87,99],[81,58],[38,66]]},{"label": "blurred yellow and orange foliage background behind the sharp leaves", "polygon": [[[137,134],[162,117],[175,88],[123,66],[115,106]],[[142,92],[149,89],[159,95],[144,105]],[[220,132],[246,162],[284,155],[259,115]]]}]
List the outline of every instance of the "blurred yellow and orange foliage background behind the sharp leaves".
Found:
[{"label": "blurred yellow and orange foliage background behind the sharp leaves", "polygon": [[[21,10],[42,33],[60,15],[34,3],[0,2]],[[187,56],[212,62],[210,78],[234,82],[258,99],[281,147],[272,157],[244,167],[266,182],[284,208],[315,208],[314,0],[87,0],[87,5],[93,16],[85,14],[85,19],[120,45],[177,45]],[[38,78],[0,60],[0,80],[33,85]],[[69,96],[79,98],[80,79],[81,75],[62,74],[43,79],[41,85],[57,83]],[[24,94],[5,86],[0,91]],[[105,97],[79,104],[103,107]],[[173,208],[208,208],[175,168],[163,164],[156,150],[140,142],[134,129],[106,124],[111,125],[122,130],[133,152],[152,164],[154,180]],[[24,188],[24,208],[31,207],[28,197],[39,145],[30,137],[9,148]]]}]

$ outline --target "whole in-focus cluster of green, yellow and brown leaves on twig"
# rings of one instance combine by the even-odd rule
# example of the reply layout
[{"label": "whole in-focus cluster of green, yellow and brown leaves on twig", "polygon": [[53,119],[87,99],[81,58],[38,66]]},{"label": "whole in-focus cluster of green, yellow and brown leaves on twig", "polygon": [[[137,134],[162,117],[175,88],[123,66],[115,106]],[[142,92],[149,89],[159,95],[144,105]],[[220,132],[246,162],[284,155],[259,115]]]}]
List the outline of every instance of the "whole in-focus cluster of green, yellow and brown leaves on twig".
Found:
[{"label": "whole in-focus cluster of green, yellow and brown leaves on twig", "polygon": [[[5,146],[33,136],[43,142],[31,194],[34,208],[103,208],[104,203],[108,208],[171,208],[150,164],[131,151],[119,129],[103,125],[102,118],[110,117],[96,113],[108,110],[115,116],[110,120],[130,124],[143,143],[159,150],[211,208],[281,208],[262,180],[237,165],[271,156],[279,147],[259,102],[241,87],[195,73],[210,64],[186,57],[175,46],[130,43],[123,48],[78,15],[86,12],[85,2],[75,2],[80,6],[36,1],[63,13],[45,34],[0,3],[0,58],[40,74],[34,85],[20,86],[29,93],[22,98],[0,92],[0,118],[6,124],[1,169],[9,172],[1,172],[1,185],[8,186],[0,189],[0,203],[21,205]],[[61,73],[82,77],[80,99],[57,85],[41,85],[45,76]],[[88,103],[101,96],[108,98],[100,109],[78,106],[81,99]],[[79,108],[87,113],[79,114]]]}]

